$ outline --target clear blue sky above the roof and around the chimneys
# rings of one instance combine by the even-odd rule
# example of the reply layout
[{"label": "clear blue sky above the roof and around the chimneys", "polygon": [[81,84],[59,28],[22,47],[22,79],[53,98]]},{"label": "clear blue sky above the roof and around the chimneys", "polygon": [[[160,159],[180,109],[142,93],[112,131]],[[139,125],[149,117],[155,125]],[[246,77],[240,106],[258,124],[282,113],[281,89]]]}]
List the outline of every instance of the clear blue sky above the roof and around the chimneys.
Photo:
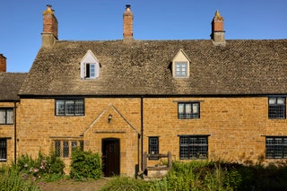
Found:
[{"label": "clear blue sky above the roof and around the chimneys", "polygon": [[60,40],[122,39],[126,4],[135,39],[210,39],[216,10],[225,39],[287,39],[287,0],[2,0],[0,54],[7,72],[29,72],[46,4],[55,10]]}]

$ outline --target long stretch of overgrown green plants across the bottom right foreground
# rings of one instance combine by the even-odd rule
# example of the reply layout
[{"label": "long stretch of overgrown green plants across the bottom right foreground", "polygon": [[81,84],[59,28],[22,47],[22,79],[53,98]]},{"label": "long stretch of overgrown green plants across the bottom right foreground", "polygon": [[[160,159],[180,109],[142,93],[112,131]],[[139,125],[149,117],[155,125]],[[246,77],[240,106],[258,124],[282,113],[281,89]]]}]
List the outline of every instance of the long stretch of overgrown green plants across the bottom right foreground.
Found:
[{"label": "long stretch of overgrown green plants across the bottom right foreground", "polygon": [[287,190],[287,163],[248,166],[223,161],[172,163],[168,175],[144,181],[116,177],[102,190]]}]

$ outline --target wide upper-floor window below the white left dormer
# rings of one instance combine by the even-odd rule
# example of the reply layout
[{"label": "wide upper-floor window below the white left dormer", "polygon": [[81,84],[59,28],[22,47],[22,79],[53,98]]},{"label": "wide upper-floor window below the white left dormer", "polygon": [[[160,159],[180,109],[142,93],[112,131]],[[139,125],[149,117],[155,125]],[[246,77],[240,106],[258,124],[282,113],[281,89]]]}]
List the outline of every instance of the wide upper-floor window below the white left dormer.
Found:
[{"label": "wide upper-floor window below the white left dormer", "polygon": [[83,116],[83,100],[56,100],[57,116]]}]

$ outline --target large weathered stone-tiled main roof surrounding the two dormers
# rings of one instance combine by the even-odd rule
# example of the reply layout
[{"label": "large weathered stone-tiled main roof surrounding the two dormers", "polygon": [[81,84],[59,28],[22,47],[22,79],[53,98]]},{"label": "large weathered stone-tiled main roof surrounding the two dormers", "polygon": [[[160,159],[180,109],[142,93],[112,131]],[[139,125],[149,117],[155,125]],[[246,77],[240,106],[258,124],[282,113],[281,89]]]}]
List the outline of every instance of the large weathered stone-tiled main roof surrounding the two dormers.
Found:
[{"label": "large weathered stone-tiled main roof surrounding the two dormers", "polygon": [[[82,80],[80,62],[91,49],[100,77]],[[190,77],[172,77],[182,49]],[[287,93],[287,39],[57,41],[41,48],[21,95],[250,95]]]}]

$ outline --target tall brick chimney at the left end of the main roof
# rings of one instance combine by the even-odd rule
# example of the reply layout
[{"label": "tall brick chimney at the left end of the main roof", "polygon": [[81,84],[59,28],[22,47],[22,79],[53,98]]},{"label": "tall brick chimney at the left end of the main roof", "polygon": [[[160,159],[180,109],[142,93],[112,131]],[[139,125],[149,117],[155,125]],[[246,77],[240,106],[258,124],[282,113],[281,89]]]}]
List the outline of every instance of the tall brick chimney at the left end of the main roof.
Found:
[{"label": "tall brick chimney at the left end of the main roof", "polygon": [[47,4],[47,10],[43,12],[42,46],[53,47],[57,40],[57,18],[52,10],[52,5]]}]

